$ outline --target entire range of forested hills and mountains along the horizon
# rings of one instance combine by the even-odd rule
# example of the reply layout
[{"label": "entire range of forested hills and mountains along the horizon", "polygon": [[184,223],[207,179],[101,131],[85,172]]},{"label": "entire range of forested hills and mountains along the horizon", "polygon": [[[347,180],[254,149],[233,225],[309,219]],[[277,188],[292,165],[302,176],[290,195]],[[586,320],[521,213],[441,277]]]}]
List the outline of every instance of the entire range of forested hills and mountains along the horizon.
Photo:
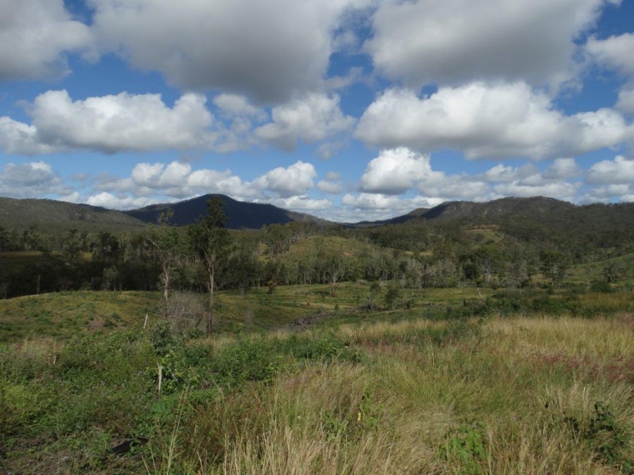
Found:
[{"label": "entire range of forested hills and mountains along the horizon", "polygon": [[[197,222],[206,213],[206,201],[214,195],[204,195],[177,203],[149,205],[135,210],[118,211],[98,206],[66,203],[48,199],[0,198],[0,226],[7,229],[43,227],[53,229],[89,229],[91,231],[133,231],[156,224],[159,214],[173,210],[172,224],[185,226]],[[261,229],[270,224],[305,222],[320,226],[335,223],[266,203],[237,201],[217,195],[225,203],[230,229]],[[417,208],[406,215],[387,220],[342,223],[344,227],[377,227],[402,224],[412,220],[453,222],[462,225],[498,224],[508,229],[521,229],[529,234],[549,234],[552,227],[561,232],[609,232],[634,229],[634,203],[573,205],[554,198],[500,198],[474,203],[448,201],[433,208]],[[555,233],[557,234],[557,233]]]}]

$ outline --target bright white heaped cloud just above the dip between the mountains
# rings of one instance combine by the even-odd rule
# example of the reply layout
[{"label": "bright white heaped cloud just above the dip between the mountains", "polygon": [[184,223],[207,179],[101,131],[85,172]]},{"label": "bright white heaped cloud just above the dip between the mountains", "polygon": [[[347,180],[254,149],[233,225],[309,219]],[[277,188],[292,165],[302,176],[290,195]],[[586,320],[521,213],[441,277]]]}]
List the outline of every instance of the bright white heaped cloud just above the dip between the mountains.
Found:
[{"label": "bright white heaped cloud just above the dip between the mountains", "polygon": [[444,177],[431,169],[430,158],[418,155],[407,148],[384,150],[368,163],[359,182],[359,189],[369,193],[402,194],[414,186],[414,182],[429,177]]}]

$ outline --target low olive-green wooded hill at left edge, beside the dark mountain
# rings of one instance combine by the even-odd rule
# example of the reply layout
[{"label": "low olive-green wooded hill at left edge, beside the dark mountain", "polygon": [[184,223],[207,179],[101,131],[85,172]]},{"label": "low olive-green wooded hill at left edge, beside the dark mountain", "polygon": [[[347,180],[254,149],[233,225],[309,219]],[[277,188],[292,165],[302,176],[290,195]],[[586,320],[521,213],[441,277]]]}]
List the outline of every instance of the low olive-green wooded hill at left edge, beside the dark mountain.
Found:
[{"label": "low olive-green wooded hill at left edge, beside the dark mountain", "polygon": [[146,225],[120,211],[99,206],[0,197],[0,226],[11,229],[38,226],[48,229],[114,231],[142,229]]}]

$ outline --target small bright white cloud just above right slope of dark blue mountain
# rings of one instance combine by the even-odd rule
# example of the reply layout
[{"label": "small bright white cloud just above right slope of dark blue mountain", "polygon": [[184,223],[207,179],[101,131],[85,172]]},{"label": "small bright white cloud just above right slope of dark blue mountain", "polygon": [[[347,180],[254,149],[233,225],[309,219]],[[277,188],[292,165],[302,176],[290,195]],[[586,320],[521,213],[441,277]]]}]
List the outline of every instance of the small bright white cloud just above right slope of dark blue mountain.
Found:
[{"label": "small bright white cloud just above right slope of dark blue mountain", "polygon": [[257,189],[273,191],[280,198],[302,195],[314,186],[317,172],[312,163],[301,160],[288,167],[277,167],[258,177],[252,183]]}]

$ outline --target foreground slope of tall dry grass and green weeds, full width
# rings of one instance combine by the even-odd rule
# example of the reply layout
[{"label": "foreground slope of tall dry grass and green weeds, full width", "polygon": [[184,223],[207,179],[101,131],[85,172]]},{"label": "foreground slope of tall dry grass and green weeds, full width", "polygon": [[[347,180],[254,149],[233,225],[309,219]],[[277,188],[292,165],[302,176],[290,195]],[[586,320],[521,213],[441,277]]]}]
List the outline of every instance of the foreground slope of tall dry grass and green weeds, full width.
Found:
[{"label": "foreground slope of tall dry grass and green weeds, full width", "polygon": [[[154,323],[0,347],[3,469],[632,473],[632,312],[418,312],[300,333],[187,340]],[[137,445],[114,455],[123,441]]]}]

